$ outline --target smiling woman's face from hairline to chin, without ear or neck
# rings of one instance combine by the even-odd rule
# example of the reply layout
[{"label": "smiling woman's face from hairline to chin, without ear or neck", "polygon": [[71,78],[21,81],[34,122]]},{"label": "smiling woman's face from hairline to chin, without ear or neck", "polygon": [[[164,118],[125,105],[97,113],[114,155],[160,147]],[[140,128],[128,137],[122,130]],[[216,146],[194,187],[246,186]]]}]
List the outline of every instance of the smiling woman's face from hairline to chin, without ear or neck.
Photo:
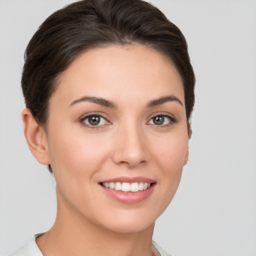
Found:
[{"label": "smiling woman's face from hairline to chin, without ear or neck", "polygon": [[46,139],[59,209],[116,232],[144,230],[187,160],[181,77],[142,45],[82,53],[49,100]]}]

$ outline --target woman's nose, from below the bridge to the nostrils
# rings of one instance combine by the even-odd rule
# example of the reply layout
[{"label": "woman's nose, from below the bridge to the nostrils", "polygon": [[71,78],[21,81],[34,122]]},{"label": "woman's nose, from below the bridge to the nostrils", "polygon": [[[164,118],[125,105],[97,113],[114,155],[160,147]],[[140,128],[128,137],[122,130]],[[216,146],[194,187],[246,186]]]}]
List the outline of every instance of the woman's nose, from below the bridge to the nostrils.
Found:
[{"label": "woman's nose, from below the bridge to the nostrils", "polygon": [[134,168],[148,160],[146,139],[142,127],[119,127],[114,138],[113,161]]}]

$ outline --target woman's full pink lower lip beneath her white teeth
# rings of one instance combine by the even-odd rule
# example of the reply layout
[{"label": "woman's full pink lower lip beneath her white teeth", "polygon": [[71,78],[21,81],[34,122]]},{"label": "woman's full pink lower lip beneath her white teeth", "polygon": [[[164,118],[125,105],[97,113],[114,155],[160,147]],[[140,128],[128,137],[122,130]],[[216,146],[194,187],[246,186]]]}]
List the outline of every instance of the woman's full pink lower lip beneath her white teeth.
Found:
[{"label": "woman's full pink lower lip beneath her white teeth", "polygon": [[149,188],[145,190],[137,191],[137,192],[123,192],[121,190],[110,189],[104,186],[101,186],[101,188],[104,190],[104,192],[107,195],[111,196],[113,199],[119,202],[132,204],[132,203],[141,202],[146,198],[148,198],[153,192],[154,186],[155,186],[155,183],[151,184]]}]

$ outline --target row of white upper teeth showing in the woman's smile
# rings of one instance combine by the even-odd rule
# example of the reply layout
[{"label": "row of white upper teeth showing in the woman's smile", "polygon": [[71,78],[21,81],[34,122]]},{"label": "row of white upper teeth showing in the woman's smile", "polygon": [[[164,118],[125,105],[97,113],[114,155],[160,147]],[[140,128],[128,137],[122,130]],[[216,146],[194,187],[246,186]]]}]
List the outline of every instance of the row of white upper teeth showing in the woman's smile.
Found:
[{"label": "row of white upper teeth showing in the woman's smile", "polygon": [[150,182],[102,182],[100,185],[114,190],[121,190],[124,192],[138,192],[146,190],[151,186]]}]

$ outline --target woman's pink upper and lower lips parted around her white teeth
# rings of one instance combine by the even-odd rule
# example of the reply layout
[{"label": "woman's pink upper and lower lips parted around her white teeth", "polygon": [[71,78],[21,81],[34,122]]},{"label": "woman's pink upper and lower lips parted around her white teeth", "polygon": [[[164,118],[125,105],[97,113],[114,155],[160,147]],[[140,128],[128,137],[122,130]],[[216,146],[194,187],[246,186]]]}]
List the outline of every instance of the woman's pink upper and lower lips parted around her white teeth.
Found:
[{"label": "woman's pink upper and lower lips parted around her white teeth", "polygon": [[[151,186],[145,190],[139,190],[137,192],[124,192],[121,190],[106,188],[100,185],[101,182],[148,182],[151,183]],[[116,177],[112,179],[102,180],[99,182],[99,186],[101,187],[103,192],[106,193],[107,196],[118,202],[126,204],[134,204],[147,199],[152,194],[155,184],[156,182],[154,180],[146,177]]]}]

